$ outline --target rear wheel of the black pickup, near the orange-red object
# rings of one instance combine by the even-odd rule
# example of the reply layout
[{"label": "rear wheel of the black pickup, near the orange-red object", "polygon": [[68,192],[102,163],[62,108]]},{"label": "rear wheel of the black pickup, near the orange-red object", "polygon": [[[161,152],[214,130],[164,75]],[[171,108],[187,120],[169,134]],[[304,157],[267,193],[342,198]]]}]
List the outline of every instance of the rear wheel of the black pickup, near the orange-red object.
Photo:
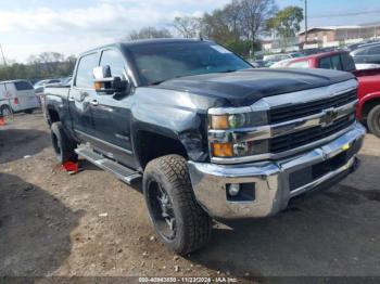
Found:
[{"label": "rear wheel of the black pickup, near the orange-red object", "polygon": [[68,138],[61,122],[54,122],[51,125],[51,141],[56,159],[61,164],[77,162],[78,156],[74,152],[76,144],[71,138]]}]

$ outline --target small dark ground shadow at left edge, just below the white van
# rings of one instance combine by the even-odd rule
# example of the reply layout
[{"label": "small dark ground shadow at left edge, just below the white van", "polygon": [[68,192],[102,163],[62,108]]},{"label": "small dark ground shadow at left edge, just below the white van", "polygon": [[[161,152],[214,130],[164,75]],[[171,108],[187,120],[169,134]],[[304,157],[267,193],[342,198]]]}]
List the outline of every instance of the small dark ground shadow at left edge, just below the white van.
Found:
[{"label": "small dark ground shadow at left edge, just below the white van", "polygon": [[0,130],[0,164],[35,155],[51,145],[50,135],[35,129]]}]

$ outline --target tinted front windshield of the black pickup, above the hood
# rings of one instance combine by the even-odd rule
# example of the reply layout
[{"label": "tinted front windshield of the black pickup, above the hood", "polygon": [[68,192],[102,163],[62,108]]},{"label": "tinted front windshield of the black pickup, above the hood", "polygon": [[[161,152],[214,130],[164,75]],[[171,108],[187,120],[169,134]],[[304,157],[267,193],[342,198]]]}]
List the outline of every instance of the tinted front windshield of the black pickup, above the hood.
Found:
[{"label": "tinted front windshield of the black pickup, above the hood", "polygon": [[129,47],[144,86],[208,73],[252,68],[238,55],[211,42],[170,42]]}]

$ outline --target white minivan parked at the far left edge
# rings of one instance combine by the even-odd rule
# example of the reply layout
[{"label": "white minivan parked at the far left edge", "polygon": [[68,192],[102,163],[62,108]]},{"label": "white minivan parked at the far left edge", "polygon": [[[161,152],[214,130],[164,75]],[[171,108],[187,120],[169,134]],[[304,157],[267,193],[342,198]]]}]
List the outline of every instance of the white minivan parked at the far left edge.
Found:
[{"label": "white minivan parked at the far left edge", "polygon": [[0,81],[0,111],[3,115],[31,114],[40,106],[35,89],[27,80]]}]

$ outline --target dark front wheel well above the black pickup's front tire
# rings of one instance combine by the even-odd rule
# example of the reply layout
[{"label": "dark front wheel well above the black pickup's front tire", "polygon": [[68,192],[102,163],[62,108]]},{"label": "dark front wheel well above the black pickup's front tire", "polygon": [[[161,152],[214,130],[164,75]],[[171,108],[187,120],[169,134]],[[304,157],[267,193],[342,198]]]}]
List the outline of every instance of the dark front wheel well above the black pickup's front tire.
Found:
[{"label": "dark front wheel well above the black pickup's front tire", "polygon": [[149,162],[165,155],[177,154],[188,158],[186,149],[178,140],[161,134],[140,131],[138,133],[138,156],[140,166],[144,169]]}]

